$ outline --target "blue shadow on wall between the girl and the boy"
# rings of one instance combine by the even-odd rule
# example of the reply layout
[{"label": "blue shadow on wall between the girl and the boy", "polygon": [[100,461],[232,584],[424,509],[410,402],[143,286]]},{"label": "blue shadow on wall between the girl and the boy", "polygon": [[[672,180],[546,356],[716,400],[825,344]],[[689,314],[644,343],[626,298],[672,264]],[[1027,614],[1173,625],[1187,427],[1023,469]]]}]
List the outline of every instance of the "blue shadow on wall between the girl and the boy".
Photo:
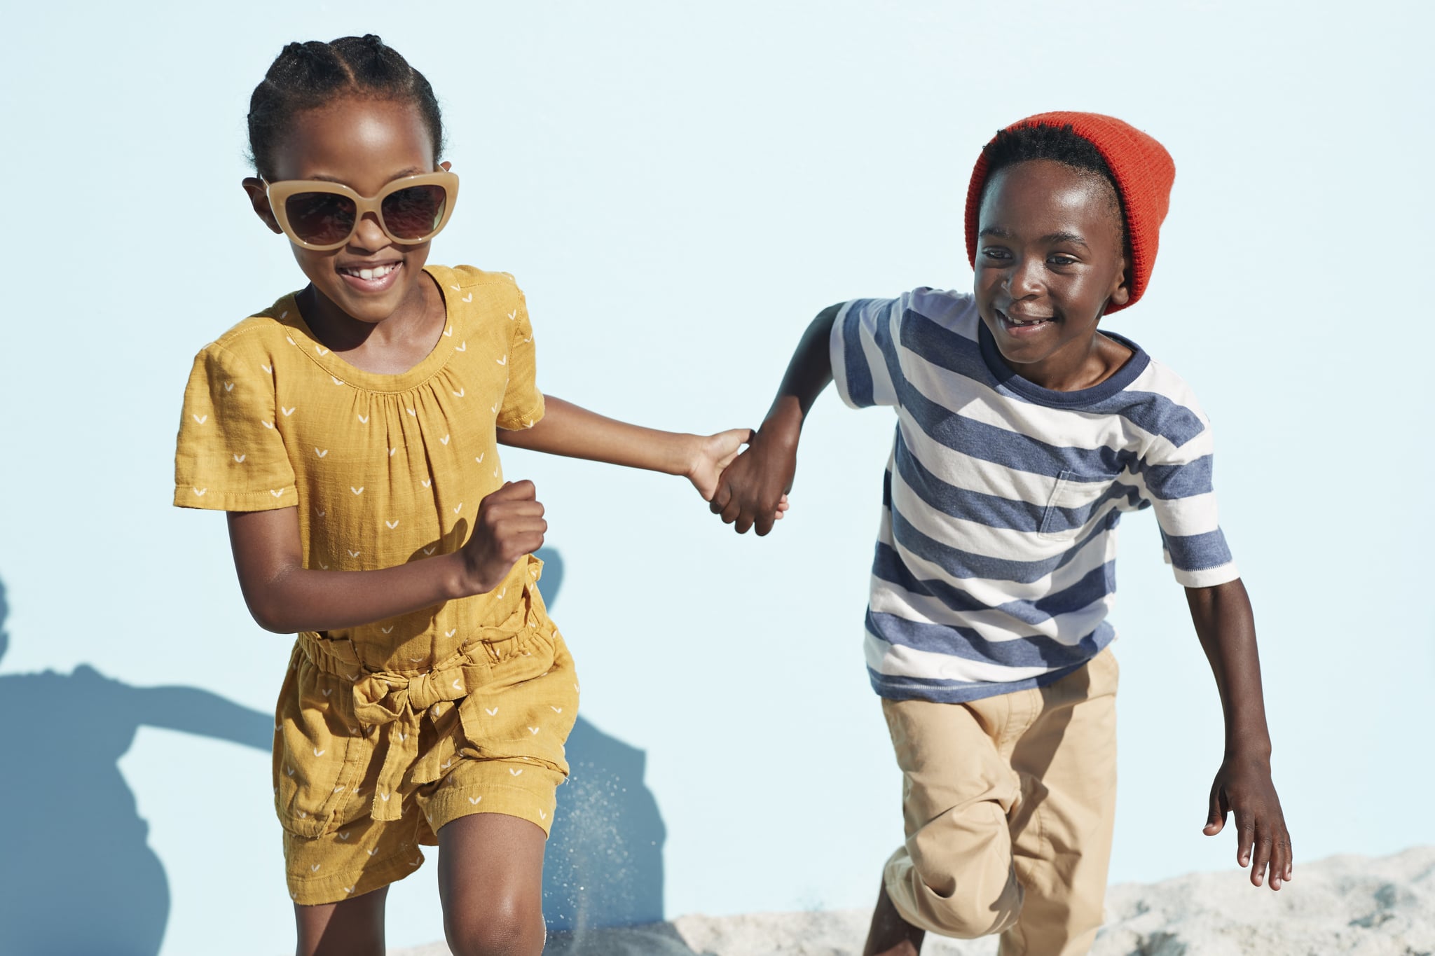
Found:
[{"label": "blue shadow on wall between the girl and the boy", "polygon": [[[551,609],[563,585],[563,556],[545,548],[538,558],[544,560],[541,588]],[[571,775],[558,790],[544,854],[548,927],[585,930],[660,922],[667,830],[643,783],[644,752],[583,717],[568,737],[567,752]]]}]

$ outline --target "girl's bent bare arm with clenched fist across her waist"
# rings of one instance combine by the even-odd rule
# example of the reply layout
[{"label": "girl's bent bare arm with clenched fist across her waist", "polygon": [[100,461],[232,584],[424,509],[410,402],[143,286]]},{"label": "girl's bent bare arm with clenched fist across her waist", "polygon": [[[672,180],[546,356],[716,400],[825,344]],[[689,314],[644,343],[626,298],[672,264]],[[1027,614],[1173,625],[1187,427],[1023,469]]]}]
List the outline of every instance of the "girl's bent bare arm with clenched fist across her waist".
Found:
[{"label": "girl's bent bare arm with clenched fist across her waist", "polygon": [[532,482],[511,482],[485,497],[458,552],[377,570],[306,568],[296,507],[230,512],[228,519],[244,602],[276,634],[353,628],[486,593],[542,546],[548,530]]}]

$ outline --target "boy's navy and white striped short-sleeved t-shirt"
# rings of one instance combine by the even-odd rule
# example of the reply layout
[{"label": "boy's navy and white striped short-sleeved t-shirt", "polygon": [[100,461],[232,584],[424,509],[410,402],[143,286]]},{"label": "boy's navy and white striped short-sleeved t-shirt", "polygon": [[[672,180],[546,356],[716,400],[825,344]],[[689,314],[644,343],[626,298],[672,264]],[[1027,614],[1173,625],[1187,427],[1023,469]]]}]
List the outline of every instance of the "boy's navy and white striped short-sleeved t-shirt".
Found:
[{"label": "boy's navy and white striped short-sleeved t-shirt", "polygon": [[867,611],[880,695],[974,701],[1093,658],[1115,638],[1122,512],[1154,507],[1181,585],[1237,578],[1210,423],[1175,373],[1112,338],[1134,353],[1125,365],[1052,391],[1003,364],[970,294],[920,288],[837,314],[842,400],[897,408]]}]

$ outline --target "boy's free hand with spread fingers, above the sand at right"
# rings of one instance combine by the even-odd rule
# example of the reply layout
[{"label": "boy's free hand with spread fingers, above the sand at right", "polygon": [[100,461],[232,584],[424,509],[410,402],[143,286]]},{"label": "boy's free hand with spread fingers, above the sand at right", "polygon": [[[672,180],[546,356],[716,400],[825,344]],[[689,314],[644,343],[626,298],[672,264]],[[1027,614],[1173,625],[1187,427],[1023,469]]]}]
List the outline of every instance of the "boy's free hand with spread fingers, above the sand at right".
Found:
[{"label": "boy's free hand with spread fingers, above the sand at right", "polygon": [[[1251,886],[1270,870],[1270,889],[1290,880],[1294,861],[1290,833],[1280,811],[1280,797],[1270,780],[1270,764],[1254,757],[1227,757],[1211,784],[1211,811],[1205,836],[1225,828],[1225,814],[1236,814],[1236,861],[1251,867]],[[1254,856],[1253,856],[1254,854]]]}]

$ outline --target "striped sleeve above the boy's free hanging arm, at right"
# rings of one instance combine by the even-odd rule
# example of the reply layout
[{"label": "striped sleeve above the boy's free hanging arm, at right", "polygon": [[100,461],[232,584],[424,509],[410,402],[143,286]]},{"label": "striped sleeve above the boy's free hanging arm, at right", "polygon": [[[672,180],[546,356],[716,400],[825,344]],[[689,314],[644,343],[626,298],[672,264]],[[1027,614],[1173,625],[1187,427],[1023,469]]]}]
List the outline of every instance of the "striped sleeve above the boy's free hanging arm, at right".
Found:
[{"label": "striped sleeve above the boy's free hanging arm, at right", "polygon": [[1165,560],[1185,588],[1213,588],[1240,578],[1215,510],[1211,426],[1175,446],[1159,440],[1141,463],[1141,497],[1161,526]]}]

